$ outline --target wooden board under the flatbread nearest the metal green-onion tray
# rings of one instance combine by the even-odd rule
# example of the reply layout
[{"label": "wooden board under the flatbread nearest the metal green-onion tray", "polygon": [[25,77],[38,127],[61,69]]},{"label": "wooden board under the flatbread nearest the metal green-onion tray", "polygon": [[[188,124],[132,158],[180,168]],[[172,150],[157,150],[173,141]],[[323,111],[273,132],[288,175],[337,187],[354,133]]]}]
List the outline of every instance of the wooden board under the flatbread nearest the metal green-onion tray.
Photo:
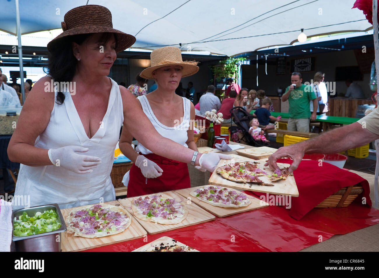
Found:
[{"label": "wooden board under the flatbread nearest the metal green-onion tray", "polygon": [[[104,204],[121,205],[117,201],[105,202]],[[86,207],[86,206],[83,206],[83,207]],[[122,205],[121,207],[125,208]],[[78,210],[80,210],[80,208],[81,207],[77,207]],[[64,208],[63,210],[61,210],[64,220],[66,220],[70,211],[72,211],[73,209],[76,209],[76,208]],[[67,231],[65,231],[61,235],[61,239],[62,239],[61,249],[63,252],[83,251],[83,250],[91,249],[94,247],[100,247],[100,246],[114,244],[117,242],[123,242],[123,241],[128,241],[131,239],[142,238],[144,235],[147,235],[144,228],[134,219],[134,217],[130,217],[130,219],[132,219],[132,223],[122,233],[111,235],[111,236],[103,236],[101,238],[82,238],[81,236],[67,237]]]}]

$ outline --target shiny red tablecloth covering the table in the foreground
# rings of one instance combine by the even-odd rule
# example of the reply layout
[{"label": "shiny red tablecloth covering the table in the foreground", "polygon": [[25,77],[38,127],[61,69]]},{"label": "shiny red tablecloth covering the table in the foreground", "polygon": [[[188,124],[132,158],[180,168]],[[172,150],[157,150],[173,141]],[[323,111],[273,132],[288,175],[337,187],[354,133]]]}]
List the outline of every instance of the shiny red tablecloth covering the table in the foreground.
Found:
[{"label": "shiny red tablecloth covering the table in the foreground", "polygon": [[[352,203],[346,208],[315,208],[302,219],[270,206],[157,235],[86,251],[132,251],[161,236],[169,236],[199,251],[299,251],[333,235],[379,223],[379,210]],[[320,237],[321,236],[321,237]],[[346,243],[348,244],[348,242]]]}]

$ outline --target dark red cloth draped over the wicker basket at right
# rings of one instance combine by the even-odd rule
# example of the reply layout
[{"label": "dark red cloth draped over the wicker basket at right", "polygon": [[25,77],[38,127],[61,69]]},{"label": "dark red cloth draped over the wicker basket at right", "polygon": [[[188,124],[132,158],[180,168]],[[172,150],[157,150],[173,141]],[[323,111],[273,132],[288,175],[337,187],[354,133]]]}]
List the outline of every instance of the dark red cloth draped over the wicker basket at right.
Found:
[{"label": "dark red cloth draped over the wicker basket at right", "polygon": [[[293,160],[279,159],[277,162],[292,164]],[[322,166],[319,166],[319,162],[316,160],[302,160],[293,175],[298,186],[299,197],[291,197],[289,210],[290,216],[296,220],[300,220],[333,193],[351,185],[363,187],[363,193],[354,202],[362,203],[362,197],[365,197],[366,204],[371,207],[368,181],[357,174],[340,169],[327,162],[322,162]],[[256,192],[255,194],[261,196],[263,193]],[[284,204],[283,207],[285,207]]]}]

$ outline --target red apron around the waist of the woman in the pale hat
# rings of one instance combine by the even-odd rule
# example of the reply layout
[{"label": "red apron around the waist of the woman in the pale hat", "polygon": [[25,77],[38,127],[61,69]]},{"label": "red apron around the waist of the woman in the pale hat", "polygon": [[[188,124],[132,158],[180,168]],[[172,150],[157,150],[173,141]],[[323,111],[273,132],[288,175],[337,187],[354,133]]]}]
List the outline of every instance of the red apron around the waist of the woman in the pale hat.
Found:
[{"label": "red apron around the waist of the woman in the pale hat", "polygon": [[146,178],[142,175],[141,169],[133,164],[129,172],[128,198],[191,187],[186,163],[157,154],[144,154],[144,156],[157,163],[162,168],[163,173],[155,179],[147,179],[146,183]]}]

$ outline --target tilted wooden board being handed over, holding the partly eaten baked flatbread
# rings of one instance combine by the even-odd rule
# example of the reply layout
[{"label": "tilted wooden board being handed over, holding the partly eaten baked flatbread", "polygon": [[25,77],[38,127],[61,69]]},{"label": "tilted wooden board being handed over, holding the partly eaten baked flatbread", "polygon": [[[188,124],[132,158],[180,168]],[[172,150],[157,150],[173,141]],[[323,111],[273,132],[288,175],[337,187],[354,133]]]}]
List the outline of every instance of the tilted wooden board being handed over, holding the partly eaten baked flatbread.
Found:
[{"label": "tilted wooden board being handed over, holding the partly eaten baked flatbread", "polygon": [[[274,172],[268,166],[267,167],[263,166],[266,163],[265,160],[253,160],[251,158],[233,155],[231,160],[221,159],[219,161],[215,171],[213,171],[210,179],[208,180],[208,183],[213,184],[213,185],[228,186],[228,187],[243,189],[243,190],[250,190],[250,191],[256,191],[256,192],[263,192],[263,193],[271,193],[271,194],[277,194],[277,195],[290,195],[292,197],[299,197],[298,187],[296,186],[296,182],[295,182],[295,179],[293,176],[289,176],[286,180],[279,180],[278,182],[273,182],[273,183],[271,183],[268,180],[268,177],[261,176],[261,177],[259,177],[259,179],[263,180],[263,182],[271,183],[274,185],[274,186],[264,186],[264,185],[257,185],[255,183],[243,184],[243,183],[238,183],[238,182],[232,182],[230,180],[224,179],[223,177],[221,177],[220,174],[218,174],[216,172],[219,167],[227,165],[229,163],[246,162],[246,161],[260,163],[260,166],[258,166],[258,167],[261,169],[265,168],[263,171],[266,171],[268,174],[273,174],[273,172]],[[287,163],[277,163],[277,165],[280,168],[290,166]]]}]

